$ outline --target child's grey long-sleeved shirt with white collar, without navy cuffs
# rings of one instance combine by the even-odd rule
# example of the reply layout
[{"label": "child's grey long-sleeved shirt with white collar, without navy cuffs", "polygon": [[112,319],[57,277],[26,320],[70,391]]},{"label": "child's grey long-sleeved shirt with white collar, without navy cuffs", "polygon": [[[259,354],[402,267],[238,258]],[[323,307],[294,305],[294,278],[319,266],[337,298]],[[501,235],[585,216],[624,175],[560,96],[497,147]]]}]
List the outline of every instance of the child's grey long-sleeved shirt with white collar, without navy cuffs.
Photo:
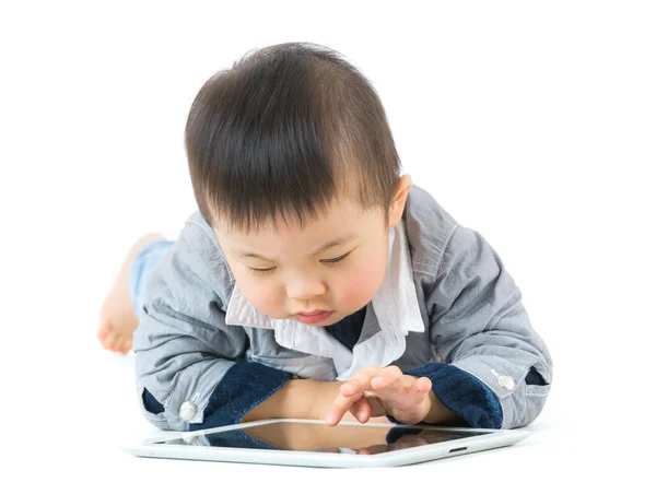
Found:
[{"label": "child's grey long-sleeved shirt with white collar, without navy cuffs", "polygon": [[[199,212],[152,271],[139,317],[137,390],[141,398],[147,388],[164,411],[139,402],[161,428],[202,423],[213,389],[237,358],[316,380],[348,379],[364,365],[409,369],[441,361],[492,390],[505,428],[532,422],[551,387],[547,346],[496,252],[417,186],[403,221],[390,230],[386,278],[352,350],[321,328],[257,311]],[[525,381],[531,368],[546,384]]]}]

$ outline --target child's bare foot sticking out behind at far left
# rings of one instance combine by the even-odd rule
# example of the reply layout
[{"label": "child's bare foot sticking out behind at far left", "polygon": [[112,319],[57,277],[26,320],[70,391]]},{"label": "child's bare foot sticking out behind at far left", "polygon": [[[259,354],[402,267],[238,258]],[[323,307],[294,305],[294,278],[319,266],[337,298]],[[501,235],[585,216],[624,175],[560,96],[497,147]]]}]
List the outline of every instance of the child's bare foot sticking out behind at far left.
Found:
[{"label": "child's bare foot sticking out behind at far left", "polygon": [[157,234],[149,234],[142,236],[132,245],[120,267],[114,286],[112,286],[105,302],[103,302],[103,307],[101,308],[101,327],[97,337],[106,350],[128,353],[132,348],[132,333],[139,326],[139,319],[130,299],[128,272],[132,259],[134,259],[141,248],[157,238],[164,237]]}]

